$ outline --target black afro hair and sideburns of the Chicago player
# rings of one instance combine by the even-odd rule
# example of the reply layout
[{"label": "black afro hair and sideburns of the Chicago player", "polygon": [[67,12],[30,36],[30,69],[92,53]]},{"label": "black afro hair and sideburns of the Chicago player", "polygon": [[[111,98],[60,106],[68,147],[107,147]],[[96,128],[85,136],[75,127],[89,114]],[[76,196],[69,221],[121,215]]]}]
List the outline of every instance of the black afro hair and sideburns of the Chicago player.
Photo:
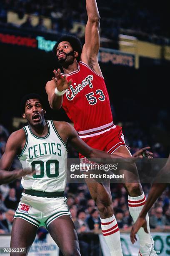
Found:
[{"label": "black afro hair and sideburns of the Chicago player", "polygon": [[[57,46],[58,46],[62,41],[67,41],[67,42],[70,43],[72,49],[73,49],[74,51],[77,51],[77,52],[78,52],[78,57],[77,57],[76,59],[77,59],[77,61],[80,61],[80,55],[81,55],[81,53],[82,53],[82,43],[81,43],[80,39],[77,38],[76,36],[67,35],[67,34],[61,36],[61,37],[58,39],[58,41],[57,41],[57,43],[55,44],[55,46],[53,47],[52,52],[53,52],[53,54],[55,55],[55,57],[56,57],[56,49],[57,49]],[[57,58],[57,57],[56,57],[56,58]],[[58,59],[57,59],[57,60],[58,60]]]}]

